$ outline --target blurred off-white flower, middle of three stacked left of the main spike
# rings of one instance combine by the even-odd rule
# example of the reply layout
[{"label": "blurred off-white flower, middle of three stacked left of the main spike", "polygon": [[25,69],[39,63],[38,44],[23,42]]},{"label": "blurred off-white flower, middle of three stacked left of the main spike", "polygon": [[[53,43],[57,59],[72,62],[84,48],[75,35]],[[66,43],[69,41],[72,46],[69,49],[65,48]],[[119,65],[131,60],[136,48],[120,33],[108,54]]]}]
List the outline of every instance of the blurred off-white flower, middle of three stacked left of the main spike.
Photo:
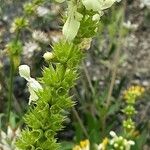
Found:
[{"label": "blurred off-white flower, middle of three stacked left of the main spike", "polygon": [[46,33],[40,31],[40,30],[35,30],[32,33],[32,37],[34,40],[41,42],[41,43],[48,43],[49,38]]}]

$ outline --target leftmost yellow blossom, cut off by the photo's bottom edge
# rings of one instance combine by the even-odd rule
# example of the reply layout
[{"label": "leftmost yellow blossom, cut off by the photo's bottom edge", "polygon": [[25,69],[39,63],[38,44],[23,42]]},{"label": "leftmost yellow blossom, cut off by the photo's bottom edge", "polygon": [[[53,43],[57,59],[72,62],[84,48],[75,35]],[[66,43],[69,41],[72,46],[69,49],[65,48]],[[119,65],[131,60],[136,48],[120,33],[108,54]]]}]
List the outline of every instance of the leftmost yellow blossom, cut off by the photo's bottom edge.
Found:
[{"label": "leftmost yellow blossom, cut off by the photo's bottom edge", "polygon": [[89,140],[81,141],[79,145],[75,145],[72,150],[90,150]]}]

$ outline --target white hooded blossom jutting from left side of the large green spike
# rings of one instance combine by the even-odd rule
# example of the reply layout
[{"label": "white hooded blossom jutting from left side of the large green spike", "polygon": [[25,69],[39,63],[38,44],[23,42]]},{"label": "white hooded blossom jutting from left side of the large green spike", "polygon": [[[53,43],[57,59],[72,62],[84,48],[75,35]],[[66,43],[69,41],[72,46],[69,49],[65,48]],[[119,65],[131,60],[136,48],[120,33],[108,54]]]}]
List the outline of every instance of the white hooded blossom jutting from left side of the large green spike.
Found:
[{"label": "white hooded blossom jutting from left side of the large green spike", "polygon": [[19,66],[19,74],[21,77],[25,78],[28,81],[28,88],[30,92],[29,97],[29,105],[32,101],[36,101],[38,99],[37,92],[42,90],[42,86],[36,81],[34,78],[30,77],[30,68],[27,65]]}]

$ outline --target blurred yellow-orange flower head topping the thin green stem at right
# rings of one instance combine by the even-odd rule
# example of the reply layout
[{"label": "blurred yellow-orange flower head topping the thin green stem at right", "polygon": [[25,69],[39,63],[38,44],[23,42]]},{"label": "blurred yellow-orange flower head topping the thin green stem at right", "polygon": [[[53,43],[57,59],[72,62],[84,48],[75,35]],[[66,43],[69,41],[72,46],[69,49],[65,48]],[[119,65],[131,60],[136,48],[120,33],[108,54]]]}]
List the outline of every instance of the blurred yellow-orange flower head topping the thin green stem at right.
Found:
[{"label": "blurred yellow-orange flower head topping the thin green stem at right", "polygon": [[124,99],[127,103],[134,104],[138,96],[141,96],[144,93],[145,89],[141,86],[131,86],[124,92]]}]

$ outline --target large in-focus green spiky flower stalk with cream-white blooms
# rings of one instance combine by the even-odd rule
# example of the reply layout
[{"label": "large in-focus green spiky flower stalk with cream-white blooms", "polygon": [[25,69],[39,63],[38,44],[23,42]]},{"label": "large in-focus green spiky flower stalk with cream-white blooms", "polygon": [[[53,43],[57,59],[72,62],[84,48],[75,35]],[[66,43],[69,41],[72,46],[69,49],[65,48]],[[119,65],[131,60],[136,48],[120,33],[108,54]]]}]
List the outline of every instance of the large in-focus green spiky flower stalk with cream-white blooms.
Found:
[{"label": "large in-focus green spiky flower stalk with cream-white blooms", "polygon": [[56,0],[67,3],[63,39],[44,54],[48,66],[43,67],[39,81],[30,77],[30,68],[19,67],[28,81],[29,110],[24,116],[26,128],[16,142],[19,150],[58,150],[57,132],[63,129],[66,111],[74,105],[69,90],[79,77],[78,68],[84,58],[83,49],[95,36],[103,11],[117,0]]}]

